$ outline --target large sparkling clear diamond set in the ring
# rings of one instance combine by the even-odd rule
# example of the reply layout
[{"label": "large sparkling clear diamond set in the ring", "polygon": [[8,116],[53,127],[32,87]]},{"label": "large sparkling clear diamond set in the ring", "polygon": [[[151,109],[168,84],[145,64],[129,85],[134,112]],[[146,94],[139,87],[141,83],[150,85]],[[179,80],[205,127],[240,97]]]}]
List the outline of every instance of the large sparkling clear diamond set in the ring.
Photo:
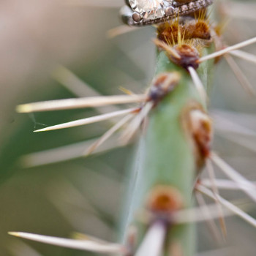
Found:
[{"label": "large sparkling clear diamond set in the ring", "polygon": [[140,13],[143,18],[154,20],[165,15],[165,7],[170,5],[170,0],[129,0],[129,4],[132,10]]}]

